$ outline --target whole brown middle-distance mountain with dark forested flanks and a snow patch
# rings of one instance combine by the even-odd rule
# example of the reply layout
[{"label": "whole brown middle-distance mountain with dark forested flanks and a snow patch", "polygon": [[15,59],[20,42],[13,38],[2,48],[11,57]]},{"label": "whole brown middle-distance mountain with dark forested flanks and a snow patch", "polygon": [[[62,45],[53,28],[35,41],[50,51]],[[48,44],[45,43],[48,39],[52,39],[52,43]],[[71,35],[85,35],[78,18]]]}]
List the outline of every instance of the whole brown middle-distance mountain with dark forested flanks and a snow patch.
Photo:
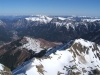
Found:
[{"label": "whole brown middle-distance mountain with dark forested flanks and a snow patch", "polygon": [[0,47],[0,63],[11,70],[32,57],[41,57],[57,44],[43,40],[23,37]]}]

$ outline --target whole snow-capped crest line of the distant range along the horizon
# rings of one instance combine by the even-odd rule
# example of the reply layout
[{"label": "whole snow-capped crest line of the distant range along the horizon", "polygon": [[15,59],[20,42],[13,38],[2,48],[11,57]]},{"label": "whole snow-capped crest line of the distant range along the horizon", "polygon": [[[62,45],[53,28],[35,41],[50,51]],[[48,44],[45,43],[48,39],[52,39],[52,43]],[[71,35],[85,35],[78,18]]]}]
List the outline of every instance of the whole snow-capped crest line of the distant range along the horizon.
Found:
[{"label": "whole snow-capped crest line of the distant range along the horizon", "polygon": [[27,21],[34,21],[40,23],[53,23],[56,26],[65,26],[67,29],[75,28],[79,25],[84,25],[88,28],[88,24],[86,22],[95,22],[100,21],[99,18],[96,17],[86,17],[86,16],[71,16],[71,17],[48,17],[45,15],[36,15],[32,17],[25,18]]}]

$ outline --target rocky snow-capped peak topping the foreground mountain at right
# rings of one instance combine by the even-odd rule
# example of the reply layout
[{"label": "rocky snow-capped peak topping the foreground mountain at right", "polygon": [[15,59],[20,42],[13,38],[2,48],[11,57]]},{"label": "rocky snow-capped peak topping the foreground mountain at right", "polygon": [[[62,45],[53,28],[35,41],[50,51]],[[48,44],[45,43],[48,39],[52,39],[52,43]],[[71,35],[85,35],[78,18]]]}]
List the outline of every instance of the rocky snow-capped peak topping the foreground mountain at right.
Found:
[{"label": "rocky snow-capped peak topping the foreground mountain at right", "polygon": [[76,39],[70,50],[74,53],[74,55],[83,55],[89,54],[89,52],[100,52],[100,46],[95,44],[94,42],[90,42],[84,39]]}]

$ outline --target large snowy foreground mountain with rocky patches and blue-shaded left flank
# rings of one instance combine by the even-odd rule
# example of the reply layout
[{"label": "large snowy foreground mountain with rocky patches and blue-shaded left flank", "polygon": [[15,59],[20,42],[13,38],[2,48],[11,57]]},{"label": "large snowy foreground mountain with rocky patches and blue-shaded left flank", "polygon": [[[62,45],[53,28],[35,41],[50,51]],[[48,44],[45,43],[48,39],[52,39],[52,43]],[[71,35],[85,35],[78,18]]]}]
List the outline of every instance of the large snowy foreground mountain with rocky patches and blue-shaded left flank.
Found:
[{"label": "large snowy foreground mountain with rocky patches and blue-shaded left flank", "polygon": [[83,39],[76,39],[65,49],[48,57],[34,58],[13,71],[27,75],[93,75],[100,74],[100,46]]}]

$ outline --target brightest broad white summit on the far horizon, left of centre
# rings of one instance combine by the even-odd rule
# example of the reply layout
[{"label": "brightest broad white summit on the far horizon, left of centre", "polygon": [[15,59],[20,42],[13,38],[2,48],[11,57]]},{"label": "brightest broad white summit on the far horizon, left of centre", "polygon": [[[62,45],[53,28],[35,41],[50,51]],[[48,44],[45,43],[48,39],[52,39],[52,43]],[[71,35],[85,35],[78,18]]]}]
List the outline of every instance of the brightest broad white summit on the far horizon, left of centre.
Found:
[{"label": "brightest broad white summit on the far horizon, left of centre", "polygon": [[41,23],[48,23],[52,20],[51,17],[44,16],[44,15],[36,15],[35,17],[28,17],[25,18],[26,20],[31,20],[31,21],[39,21]]}]

